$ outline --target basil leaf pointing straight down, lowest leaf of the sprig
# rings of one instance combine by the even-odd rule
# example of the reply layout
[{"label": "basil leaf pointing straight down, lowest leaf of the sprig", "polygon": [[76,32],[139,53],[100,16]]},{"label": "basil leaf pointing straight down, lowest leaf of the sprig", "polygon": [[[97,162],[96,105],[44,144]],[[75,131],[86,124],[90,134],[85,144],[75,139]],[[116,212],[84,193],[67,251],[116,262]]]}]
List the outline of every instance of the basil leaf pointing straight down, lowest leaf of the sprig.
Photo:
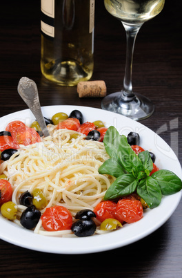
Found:
[{"label": "basil leaf pointing straight down, lowest leaf of the sprig", "polygon": [[140,180],[136,192],[150,208],[157,207],[161,203],[161,188],[151,176]]}]

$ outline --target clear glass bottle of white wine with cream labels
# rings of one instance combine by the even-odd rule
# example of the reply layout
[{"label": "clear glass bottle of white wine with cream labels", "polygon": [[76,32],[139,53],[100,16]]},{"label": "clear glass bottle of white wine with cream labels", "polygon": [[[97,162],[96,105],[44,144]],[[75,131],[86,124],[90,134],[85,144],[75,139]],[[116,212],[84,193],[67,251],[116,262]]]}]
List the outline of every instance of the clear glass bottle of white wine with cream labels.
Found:
[{"label": "clear glass bottle of white wine with cream labels", "polygon": [[94,0],[41,0],[41,73],[63,86],[90,80]]}]

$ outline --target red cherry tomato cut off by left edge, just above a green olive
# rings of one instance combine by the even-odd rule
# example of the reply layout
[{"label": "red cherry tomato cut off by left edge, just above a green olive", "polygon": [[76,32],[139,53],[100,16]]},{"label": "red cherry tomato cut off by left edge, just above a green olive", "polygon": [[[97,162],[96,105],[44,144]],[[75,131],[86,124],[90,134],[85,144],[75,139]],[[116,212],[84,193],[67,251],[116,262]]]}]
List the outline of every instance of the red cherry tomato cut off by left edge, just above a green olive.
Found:
[{"label": "red cherry tomato cut off by left edge, just above a green olive", "polygon": [[11,201],[12,198],[12,186],[8,180],[0,180],[0,205]]}]

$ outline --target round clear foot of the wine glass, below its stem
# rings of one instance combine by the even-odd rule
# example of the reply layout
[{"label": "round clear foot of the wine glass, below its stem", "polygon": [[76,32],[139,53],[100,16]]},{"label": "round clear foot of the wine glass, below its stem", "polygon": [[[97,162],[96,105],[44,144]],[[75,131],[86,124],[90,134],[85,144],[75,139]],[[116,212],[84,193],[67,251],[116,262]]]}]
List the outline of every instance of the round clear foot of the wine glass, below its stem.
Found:
[{"label": "round clear foot of the wine glass, below its stem", "polygon": [[103,98],[101,107],[133,120],[146,119],[154,112],[154,104],[145,96],[134,93],[134,98],[128,100],[123,96],[122,91],[111,93]]}]

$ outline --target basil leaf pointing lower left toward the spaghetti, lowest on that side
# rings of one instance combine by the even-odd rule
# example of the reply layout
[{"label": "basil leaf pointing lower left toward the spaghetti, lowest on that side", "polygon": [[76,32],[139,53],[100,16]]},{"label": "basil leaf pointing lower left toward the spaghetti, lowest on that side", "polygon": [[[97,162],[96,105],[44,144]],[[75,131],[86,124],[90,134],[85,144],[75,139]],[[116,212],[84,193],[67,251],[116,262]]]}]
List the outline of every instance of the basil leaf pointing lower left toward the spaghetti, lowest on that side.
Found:
[{"label": "basil leaf pointing lower left toward the spaghetti, lowest on that side", "polygon": [[139,181],[132,174],[119,176],[105,192],[104,200],[127,196],[136,190]]}]

